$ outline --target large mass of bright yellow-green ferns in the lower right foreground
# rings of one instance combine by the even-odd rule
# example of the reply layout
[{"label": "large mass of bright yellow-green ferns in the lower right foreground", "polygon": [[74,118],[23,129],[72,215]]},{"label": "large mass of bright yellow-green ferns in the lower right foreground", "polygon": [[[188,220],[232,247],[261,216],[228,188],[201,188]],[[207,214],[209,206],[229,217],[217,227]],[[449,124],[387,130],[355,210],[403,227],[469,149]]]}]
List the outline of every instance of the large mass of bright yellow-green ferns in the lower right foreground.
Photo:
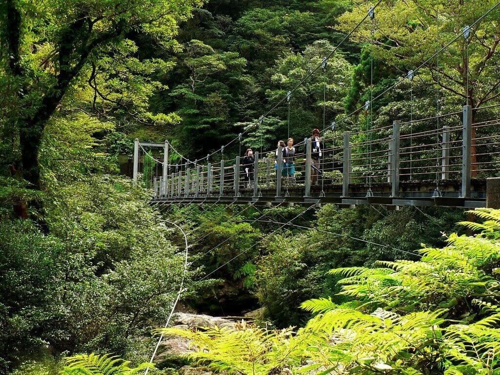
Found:
[{"label": "large mass of bright yellow-green ferns in the lower right foreground", "polygon": [[161,331],[189,338],[187,356],[228,373],[496,373],[500,211],[476,212],[486,221],[464,224],[480,234],[450,234],[445,247],[421,249],[419,260],[330,270],[349,300],[305,301],[316,315],[296,332],[244,324]]}]

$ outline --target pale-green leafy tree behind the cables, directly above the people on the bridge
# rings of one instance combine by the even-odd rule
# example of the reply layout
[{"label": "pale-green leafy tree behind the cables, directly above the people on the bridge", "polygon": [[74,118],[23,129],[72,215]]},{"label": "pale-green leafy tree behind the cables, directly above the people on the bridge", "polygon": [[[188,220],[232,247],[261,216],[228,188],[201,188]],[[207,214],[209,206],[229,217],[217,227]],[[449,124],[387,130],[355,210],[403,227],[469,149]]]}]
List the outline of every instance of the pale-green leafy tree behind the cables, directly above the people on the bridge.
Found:
[{"label": "pale-green leafy tree behind the cables, directly above the people on the bridge", "polygon": [[[327,40],[318,40],[308,45],[303,52],[290,53],[279,59],[271,77],[271,86],[266,91],[268,101],[275,103],[281,100],[288,90],[294,88],[332,50],[333,46]],[[328,60],[324,72],[316,72],[292,93],[290,136],[295,138],[296,143],[299,139],[308,136],[312,128],[322,128],[323,104],[325,105],[326,126],[329,126],[330,120],[336,114],[343,112],[343,101],[347,94],[350,72],[349,62],[340,53],[334,53]],[[323,101],[323,89],[325,101]],[[261,127],[264,131],[269,127],[274,131],[274,141],[269,142],[271,146],[274,146],[277,139],[287,137],[287,110],[287,104],[284,102],[272,113],[283,119],[280,123],[274,117],[270,117],[264,119],[261,126],[253,126],[249,132],[249,144],[259,144]],[[250,124],[247,123],[246,126],[248,125]],[[267,141],[265,135],[263,140]]]}]

